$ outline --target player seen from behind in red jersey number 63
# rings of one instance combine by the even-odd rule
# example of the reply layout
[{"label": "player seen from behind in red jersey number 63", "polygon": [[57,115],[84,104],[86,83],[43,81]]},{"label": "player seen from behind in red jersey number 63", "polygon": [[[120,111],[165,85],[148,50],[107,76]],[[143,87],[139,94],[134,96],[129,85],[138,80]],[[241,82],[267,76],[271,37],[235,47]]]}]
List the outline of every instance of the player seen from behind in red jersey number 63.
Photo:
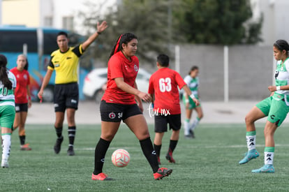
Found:
[{"label": "player seen from behind in red jersey number 63", "polygon": [[170,163],[175,163],[172,158],[172,152],[177,147],[179,140],[179,130],[181,129],[181,107],[179,104],[179,89],[184,89],[186,94],[193,99],[195,105],[199,105],[199,101],[192,94],[186,82],[177,71],[168,68],[170,58],[166,54],[159,54],[156,61],[158,71],[149,78],[149,94],[154,97],[154,149],[160,161],[162,139],[165,132],[168,131],[168,124],[172,129],[170,137],[170,147],[165,158]]}]

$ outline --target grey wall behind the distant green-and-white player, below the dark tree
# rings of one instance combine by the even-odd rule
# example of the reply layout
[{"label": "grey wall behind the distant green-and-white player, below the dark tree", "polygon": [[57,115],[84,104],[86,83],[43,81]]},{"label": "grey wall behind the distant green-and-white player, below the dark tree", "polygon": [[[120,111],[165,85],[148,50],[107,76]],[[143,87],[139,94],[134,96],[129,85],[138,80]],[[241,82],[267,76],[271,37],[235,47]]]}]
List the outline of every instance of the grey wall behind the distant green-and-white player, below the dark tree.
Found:
[{"label": "grey wall behind the distant green-and-white player, below the dark tree", "polygon": [[[261,100],[269,96],[274,84],[272,46],[231,46],[228,57],[228,99]],[[192,66],[200,69],[202,101],[224,101],[224,47],[180,45],[180,71],[185,77]],[[174,64],[172,64],[174,68]]]}]

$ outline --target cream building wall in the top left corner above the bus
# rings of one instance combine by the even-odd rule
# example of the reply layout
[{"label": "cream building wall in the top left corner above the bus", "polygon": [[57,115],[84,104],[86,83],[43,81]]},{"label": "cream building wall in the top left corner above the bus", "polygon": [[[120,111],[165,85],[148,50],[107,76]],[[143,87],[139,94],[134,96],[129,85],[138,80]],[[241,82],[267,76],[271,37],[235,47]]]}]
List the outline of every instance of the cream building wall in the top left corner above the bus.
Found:
[{"label": "cream building wall in the top left corner above the bus", "polygon": [[2,24],[38,27],[40,24],[38,0],[2,0]]}]

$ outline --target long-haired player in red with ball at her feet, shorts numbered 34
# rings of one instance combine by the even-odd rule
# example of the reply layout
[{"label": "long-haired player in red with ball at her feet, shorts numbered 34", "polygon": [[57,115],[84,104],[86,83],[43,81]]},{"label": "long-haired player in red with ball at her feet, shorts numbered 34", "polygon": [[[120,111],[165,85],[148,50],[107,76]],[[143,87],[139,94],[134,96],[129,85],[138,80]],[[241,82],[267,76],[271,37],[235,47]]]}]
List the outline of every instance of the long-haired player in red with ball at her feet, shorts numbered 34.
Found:
[{"label": "long-haired player in red with ball at her feet, shorts numbered 34", "polygon": [[135,83],[139,69],[138,57],[135,56],[137,48],[138,38],[134,34],[126,33],[119,36],[110,54],[108,84],[100,106],[101,138],[96,145],[94,154],[94,172],[91,175],[93,180],[111,180],[103,173],[103,163],[121,120],[140,140],[142,152],[154,172],[154,179],[162,179],[172,172],[171,169],[158,167],[147,121],[142,115],[141,100],[151,101],[151,96],[139,91]]}]

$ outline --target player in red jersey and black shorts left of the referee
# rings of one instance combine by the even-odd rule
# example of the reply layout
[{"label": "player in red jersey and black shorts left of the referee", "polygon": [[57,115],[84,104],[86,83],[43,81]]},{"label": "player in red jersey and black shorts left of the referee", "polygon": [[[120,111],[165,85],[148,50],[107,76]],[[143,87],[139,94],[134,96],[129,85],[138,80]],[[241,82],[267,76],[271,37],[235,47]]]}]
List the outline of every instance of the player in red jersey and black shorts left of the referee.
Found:
[{"label": "player in red jersey and black shorts left of the referee", "polygon": [[24,54],[20,54],[16,61],[17,66],[10,71],[15,75],[17,80],[17,87],[15,89],[15,119],[13,128],[14,130],[19,126],[18,135],[20,138],[20,150],[29,151],[31,148],[29,144],[25,144],[25,121],[27,118],[28,108],[31,107],[31,95],[29,89],[29,73],[28,61]]}]

